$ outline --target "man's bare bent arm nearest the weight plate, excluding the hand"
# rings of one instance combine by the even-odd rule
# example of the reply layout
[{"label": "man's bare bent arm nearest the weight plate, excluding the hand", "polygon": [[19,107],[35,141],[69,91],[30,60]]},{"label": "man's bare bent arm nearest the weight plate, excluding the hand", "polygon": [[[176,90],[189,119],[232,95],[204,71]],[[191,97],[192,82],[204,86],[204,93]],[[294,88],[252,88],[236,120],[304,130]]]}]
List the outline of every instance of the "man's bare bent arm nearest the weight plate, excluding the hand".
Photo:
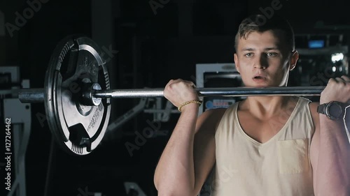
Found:
[{"label": "man's bare bent arm nearest the weight plate, excluding the hand", "polygon": [[197,195],[215,163],[214,134],[225,110],[209,110],[197,120],[197,105],[188,106],[155,169],[158,195]]}]

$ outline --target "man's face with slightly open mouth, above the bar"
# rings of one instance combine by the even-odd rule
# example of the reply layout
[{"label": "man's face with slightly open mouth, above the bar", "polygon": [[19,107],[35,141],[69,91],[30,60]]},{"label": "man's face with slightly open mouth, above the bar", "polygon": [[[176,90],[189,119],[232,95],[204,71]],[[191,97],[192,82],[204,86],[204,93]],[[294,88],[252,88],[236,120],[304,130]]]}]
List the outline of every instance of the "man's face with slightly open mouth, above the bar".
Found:
[{"label": "man's face with slightly open mouth, above the bar", "polygon": [[246,39],[239,39],[235,64],[245,86],[287,85],[297,53],[290,54],[286,43],[276,35],[272,31],[253,31]]}]

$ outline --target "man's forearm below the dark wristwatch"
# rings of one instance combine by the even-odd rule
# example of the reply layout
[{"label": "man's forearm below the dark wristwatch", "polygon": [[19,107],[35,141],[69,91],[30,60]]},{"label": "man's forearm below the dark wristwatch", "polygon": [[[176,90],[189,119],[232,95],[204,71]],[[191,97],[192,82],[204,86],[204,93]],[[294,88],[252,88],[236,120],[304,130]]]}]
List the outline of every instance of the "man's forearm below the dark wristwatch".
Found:
[{"label": "man's forearm below the dark wristwatch", "polygon": [[349,195],[350,144],[344,123],[320,116],[320,149],[316,173],[317,195]]}]

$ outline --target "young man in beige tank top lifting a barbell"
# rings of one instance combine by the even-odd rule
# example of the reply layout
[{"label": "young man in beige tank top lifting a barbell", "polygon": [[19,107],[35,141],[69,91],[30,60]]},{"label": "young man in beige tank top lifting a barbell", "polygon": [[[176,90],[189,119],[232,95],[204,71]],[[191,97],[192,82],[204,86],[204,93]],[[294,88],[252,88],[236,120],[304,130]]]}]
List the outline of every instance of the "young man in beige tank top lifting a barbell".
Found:
[{"label": "young man in beige tank top lifting a barbell", "polygon": [[[245,86],[286,86],[298,59],[293,29],[286,20],[262,19],[253,15],[241,22],[235,66]],[[330,79],[320,103],[248,96],[200,117],[197,103],[188,103],[199,100],[193,86],[184,80],[165,86],[165,97],[183,106],[155,170],[158,195],[195,196],[212,169],[211,195],[350,195],[344,123],[317,111],[331,101],[349,103],[349,77]]]}]

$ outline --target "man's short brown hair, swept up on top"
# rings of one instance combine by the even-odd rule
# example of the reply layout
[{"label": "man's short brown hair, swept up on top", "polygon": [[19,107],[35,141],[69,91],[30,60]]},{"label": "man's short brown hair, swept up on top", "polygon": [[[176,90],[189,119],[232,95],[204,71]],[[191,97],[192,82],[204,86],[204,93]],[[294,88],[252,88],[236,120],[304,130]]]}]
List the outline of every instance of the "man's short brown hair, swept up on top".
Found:
[{"label": "man's short brown hair, swept up on top", "polygon": [[248,34],[253,31],[264,32],[268,30],[281,31],[283,36],[285,36],[284,40],[286,40],[290,52],[295,50],[293,28],[286,19],[277,15],[270,18],[264,15],[251,15],[242,20],[235,36],[235,50],[237,50],[238,40],[240,38],[246,39]]}]

